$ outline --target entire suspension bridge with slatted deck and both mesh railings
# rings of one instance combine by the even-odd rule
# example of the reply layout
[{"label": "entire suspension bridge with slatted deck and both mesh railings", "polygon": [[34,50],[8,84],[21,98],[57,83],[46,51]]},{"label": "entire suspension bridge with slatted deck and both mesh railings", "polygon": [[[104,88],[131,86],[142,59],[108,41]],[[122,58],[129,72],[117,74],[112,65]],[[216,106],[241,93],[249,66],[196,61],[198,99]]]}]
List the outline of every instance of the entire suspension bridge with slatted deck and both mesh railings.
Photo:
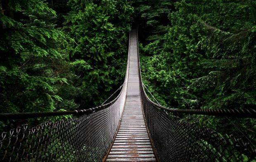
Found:
[{"label": "entire suspension bridge with slatted deck and both mesh railings", "polygon": [[176,114],[256,118],[256,110],[180,110],[154,103],[142,83],[137,38],[133,29],[126,77],[113,101],[85,110],[1,113],[0,120],[73,117],[4,131],[0,136],[0,161],[255,162],[253,143],[180,121]]}]

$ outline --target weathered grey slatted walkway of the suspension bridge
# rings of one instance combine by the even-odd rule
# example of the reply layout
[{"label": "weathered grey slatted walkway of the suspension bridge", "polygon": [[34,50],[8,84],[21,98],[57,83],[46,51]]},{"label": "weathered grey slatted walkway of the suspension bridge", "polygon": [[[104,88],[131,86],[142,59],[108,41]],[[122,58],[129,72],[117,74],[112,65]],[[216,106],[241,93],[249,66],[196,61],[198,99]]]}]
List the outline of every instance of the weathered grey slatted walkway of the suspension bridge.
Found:
[{"label": "weathered grey slatted walkway of the suspension bridge", "polygon": [[130,58],[126,103],[121,124],[107,162],[156,162],[140,99],[137,33],[130,33]]}]

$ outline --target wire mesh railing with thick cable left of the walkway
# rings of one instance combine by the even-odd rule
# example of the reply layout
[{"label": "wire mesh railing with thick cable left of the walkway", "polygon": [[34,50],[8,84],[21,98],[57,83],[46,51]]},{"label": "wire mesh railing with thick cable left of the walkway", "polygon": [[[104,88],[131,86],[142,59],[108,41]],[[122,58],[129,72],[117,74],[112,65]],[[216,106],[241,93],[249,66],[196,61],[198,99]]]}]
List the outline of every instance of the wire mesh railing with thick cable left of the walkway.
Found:
[{"label": "wire mesh railing with thick cable left of the walkway", "polygon": [[129,62],[121,92],[102,106],[67,112],[0,114],[0,120],[74,115],[69,120],[48,121],[36,127],[23,125],[2,132],[0,162],[101,162],[121,120],[128,71]]}]

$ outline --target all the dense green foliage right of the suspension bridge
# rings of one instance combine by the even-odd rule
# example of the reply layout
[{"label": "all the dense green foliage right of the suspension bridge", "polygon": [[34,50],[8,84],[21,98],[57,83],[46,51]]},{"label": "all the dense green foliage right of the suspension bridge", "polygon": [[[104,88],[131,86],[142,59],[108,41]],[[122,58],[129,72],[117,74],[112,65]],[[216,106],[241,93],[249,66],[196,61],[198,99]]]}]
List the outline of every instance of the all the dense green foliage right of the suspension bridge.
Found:
[{"label": "all the dense green foliage right of the suspension bridge", "polygon": [[[166,5],[168,12],[166,6],[162,7],[166,14],[161,17],[154,11],[164,1],[147,6],[141,3],[137,7],[141,11],[140,26],[152,28],[141,30],[139,35],[142,79],[162,105],[197,109],[256,107],[255,1],[177,0]],[[254,119],[230,122],[203,115],[180,117],[245,138],[240,129],[255,143]]]}]

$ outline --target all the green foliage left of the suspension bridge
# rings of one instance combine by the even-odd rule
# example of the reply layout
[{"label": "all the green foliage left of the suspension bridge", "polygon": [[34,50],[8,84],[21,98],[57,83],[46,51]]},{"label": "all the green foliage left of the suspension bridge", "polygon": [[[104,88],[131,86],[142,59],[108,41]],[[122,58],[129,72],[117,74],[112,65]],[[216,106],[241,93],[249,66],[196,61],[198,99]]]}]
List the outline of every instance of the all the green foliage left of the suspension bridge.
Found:
[{"label": "all the green foliage left of the suspension bridge", "polygon": [[123,82],[132,13],[126,0],[0,0],[0,112],[101,104]]}]

